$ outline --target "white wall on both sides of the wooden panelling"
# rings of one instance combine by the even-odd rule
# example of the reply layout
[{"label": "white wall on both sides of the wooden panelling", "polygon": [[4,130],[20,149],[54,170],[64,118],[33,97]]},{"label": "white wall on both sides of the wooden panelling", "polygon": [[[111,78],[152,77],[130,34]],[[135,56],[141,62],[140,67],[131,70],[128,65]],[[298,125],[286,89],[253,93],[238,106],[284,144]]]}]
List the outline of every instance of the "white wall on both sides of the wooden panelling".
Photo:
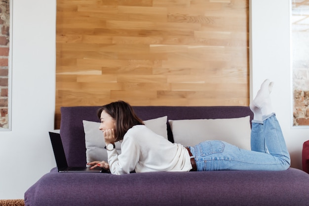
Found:
[{"label": "white wall on both sides of the wooden panelling", "polygon": [[[12,0],[11,0],[12,1]],[[250,0],[251,95],[274,81],[273,105],[292,166],[301,168],[309,130],[292,128],[289,0]],[[12,131],[0,131],[0,199],[24,192],[55,167],[48,137],[55,107],[56,0],[14,0],[12,33]]]}]

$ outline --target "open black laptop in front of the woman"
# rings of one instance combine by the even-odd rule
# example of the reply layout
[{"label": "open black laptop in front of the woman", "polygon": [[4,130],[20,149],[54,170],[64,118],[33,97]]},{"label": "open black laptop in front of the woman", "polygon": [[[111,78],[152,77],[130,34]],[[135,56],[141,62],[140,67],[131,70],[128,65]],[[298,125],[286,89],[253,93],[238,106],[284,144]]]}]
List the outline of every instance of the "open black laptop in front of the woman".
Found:
[{"label": "open black laptop in front of the woman", "polygon": [[64,153],[61,137],[59,133],[49,132],[51,146],[54,151],[58,172],[101,172],[110,173],[109,170],[101,167],[90,169],[90,167],[73,167],[68,166],[66,155]]}]

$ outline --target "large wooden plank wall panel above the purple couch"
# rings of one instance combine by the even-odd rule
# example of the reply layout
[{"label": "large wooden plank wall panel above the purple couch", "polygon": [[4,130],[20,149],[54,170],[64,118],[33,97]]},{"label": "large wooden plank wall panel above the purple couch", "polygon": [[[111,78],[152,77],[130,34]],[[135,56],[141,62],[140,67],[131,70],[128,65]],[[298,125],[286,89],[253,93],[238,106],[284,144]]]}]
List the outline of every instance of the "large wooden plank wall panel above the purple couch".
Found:
[{"label": "large wooden plank wall panel above the purple couch", "polygon": [[248,0],[57,0],[61,106],[249,105]]}]

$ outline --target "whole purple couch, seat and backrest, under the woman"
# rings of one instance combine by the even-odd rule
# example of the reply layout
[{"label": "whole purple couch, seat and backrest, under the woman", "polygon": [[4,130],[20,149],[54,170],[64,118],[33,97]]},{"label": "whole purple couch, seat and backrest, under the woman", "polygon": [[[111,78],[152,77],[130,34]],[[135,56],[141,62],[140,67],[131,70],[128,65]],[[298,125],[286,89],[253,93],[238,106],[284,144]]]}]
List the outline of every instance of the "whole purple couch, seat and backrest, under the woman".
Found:
[{"label": "whole purple couch, seat and backrest, under the woman", "polygon": [[[99,107],[62,107],[63,145],[70,166],[86,164],[82,120],[96,121]],[[154,119],[238,118],[249,107],[136,106],[137,115]],[[168,123],[167,123],[168,124]],[[47,131],[46,131],[47,132]],[[173,141],[168,124],[168,138]],[[285,171],[58,173],[43,175],[25,193],[26,206],[308,206],[309,175]]]}]

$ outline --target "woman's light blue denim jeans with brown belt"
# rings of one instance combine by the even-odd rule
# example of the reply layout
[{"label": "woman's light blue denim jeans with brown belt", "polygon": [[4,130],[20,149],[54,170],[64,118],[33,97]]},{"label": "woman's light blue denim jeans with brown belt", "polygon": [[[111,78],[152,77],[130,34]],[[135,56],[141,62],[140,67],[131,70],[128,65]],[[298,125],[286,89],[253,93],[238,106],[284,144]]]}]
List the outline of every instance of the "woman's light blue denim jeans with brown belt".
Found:
[{"label": "woman's light blue denim jeans with brown belt", "polygon": [[285,170],[290,166],[290,155],[275,114],[264,117],[263,124],[252,121],[251,150],[218,140],[199,143],[190,150],[197,171]]}]

